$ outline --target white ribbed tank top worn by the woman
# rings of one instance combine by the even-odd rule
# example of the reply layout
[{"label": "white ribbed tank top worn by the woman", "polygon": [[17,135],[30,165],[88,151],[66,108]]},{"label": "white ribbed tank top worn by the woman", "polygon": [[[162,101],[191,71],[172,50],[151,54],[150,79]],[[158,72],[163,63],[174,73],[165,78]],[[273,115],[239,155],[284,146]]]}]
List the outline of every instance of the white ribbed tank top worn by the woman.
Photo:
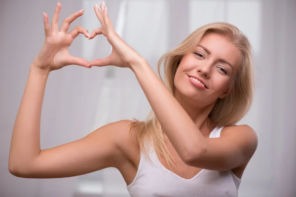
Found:
[{"label": "white ribbed tank top worn by the woman", "polygon": [[[222,128],[216,127],[210,138],[220,137]],[[231,171],[202,169],[194,177],[185,179],[164,167],[153,146],[145,148],[152,161],[141,153],[137,174],[127,190],[131,197],[237,197],[241,180]]]}]

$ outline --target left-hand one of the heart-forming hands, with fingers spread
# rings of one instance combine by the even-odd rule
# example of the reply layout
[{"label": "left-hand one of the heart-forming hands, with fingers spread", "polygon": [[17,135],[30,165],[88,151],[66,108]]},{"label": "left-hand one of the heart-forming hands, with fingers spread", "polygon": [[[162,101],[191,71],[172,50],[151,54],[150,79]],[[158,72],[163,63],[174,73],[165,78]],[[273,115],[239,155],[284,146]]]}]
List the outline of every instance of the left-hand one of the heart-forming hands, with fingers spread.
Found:
[{"label": "left-hand one of the heart-forming hands, with fingers spread", "polygon": [[69,46],[79,33],[84,34],[85,37],[89,37],[87,30],[80,26],[76,26],[70,33],[67,33],[71,23],[79,16],[82,16],[84,10],[75,12],[66,18],[59,31],[58,20],[61,6],[61,3],[58,2],[51,22],[51,29],[47,14],[43,13],[45,42],[32,66],[34,66],[34,68],[37,67],[39,70],[48,72],[68,65],[91,67],[88,66],[87,60],[73,57],[68,51]]}]

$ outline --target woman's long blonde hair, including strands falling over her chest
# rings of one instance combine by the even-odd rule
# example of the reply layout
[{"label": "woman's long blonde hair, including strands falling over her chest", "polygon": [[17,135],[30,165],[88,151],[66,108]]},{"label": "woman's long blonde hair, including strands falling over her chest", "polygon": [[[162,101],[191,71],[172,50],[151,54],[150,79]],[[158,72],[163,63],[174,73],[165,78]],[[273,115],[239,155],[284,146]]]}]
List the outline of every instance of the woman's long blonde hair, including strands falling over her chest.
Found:
[{"label": "woman's long blonde hair, including strands falling over her chest", "polygon": [[[237,27],[225,22],[215,22],[204,25],[181,42],[176,48],[161,56],[158,61],[158,74],[162,82],[174,95],[174,77],[183,56],[191,52],[201,38],[208,33],[217,33],[229,38],[238,48],[241,55],[241,63],[236,77],[230,85],[230,91],[226,98],[218,99],[209,118],[217,126],[231,126],[242,119],[251,107],[254,94],[254,67],[252,58],[252,47],[245,36]],[[161,78],[160,66],[164,65],[165,80]],[[151,110],[146,121],[131,123],[131,133],[135,132],[140,146],[140,153],[143,151],[148,156],[144,146],[144,140],[152,140],[157,157],[164,159],[169,169],[176,167],[176,163],[169,153],[161,125]]]}]

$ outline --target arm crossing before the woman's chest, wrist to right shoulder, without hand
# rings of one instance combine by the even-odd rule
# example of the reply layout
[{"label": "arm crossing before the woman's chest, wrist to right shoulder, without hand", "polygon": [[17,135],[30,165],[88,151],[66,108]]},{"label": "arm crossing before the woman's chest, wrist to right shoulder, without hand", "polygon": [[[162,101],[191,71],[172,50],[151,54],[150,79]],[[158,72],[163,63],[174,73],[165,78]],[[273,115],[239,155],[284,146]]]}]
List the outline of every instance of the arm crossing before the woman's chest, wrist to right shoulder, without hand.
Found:
[{"label": "arm crossing before the woman's chest, wrist to right shoulder, without hand", "polygon": [[219,138],[205,138],[184,108],[146,61],[132,66],[157,119],[183,162],[211,170],[229,170],[248,162],[258,145],[249,126],[224,128]]}]

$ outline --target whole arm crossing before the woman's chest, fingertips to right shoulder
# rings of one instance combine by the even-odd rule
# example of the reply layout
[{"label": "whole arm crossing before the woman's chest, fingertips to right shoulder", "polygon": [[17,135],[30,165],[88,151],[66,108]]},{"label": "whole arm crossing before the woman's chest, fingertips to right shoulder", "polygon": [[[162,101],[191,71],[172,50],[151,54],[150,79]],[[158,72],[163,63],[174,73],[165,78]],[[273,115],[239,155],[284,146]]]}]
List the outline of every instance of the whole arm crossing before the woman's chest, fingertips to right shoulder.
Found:
[{"label": "whole arm crossing before the woman's chest, fingertips to right shoulder", "polygon": [[228,170],[247,163],[257,148],[256,132],[248,126],[236,126],[224,128],[226,134],[217,139],[204,137],[148,62],[114,31],[103,4],[101,10],[102,13],[95,7],[102,27],[92,32],[90,39],[97,34],[105,35],[112,45],[112,53],[107,58],[90,62],[90,65],[131,68],[161,127],[185,164],[212,170]]}]

